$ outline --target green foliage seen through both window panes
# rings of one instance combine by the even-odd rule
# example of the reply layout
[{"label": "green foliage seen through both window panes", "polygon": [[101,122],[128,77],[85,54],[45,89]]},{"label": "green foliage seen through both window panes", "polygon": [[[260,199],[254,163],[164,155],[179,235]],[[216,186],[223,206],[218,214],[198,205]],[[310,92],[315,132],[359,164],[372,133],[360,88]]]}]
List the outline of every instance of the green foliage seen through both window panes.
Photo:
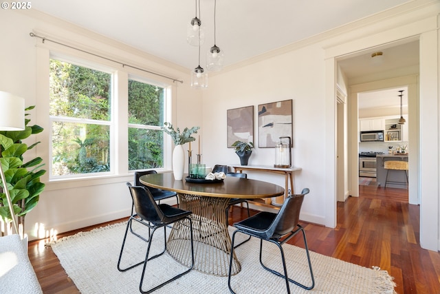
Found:
[{"label": "green foliage seen through both window panes", "polygon": [[[50,60],[52,175],[110,171],[111,80],[106,72]],[[128,84],[129,170],[163,167],[165,90]]]}]

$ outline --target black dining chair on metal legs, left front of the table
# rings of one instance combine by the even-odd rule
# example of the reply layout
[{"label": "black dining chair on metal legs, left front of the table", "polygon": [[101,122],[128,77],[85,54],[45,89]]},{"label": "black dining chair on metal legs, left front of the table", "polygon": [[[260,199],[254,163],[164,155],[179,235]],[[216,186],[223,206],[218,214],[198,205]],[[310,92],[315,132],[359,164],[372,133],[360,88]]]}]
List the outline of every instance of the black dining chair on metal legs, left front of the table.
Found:
[{"label": "black dining chair on metal legs, left front of the table", "polygon": [[[122,272],[128,271],[129,269],[133,269],[134,267],[139,266],[140,264],[144,264],[144,268],[142,269],[142,276],[140,278],[139,290],[141,293],[151,293],[157,290],[158,288],[161,288],[162,286],[170,282],[173,282],[174,280],[177,280],[182,275],[189,273],[192,267],[194,266],[194,244],[192,240],[192,221],[189,217],[192,212],[185,211],[183,209],[178,209],[168,204],[157,204],[155,199],[153,198],[153,195],[151,194],[150,191],[148,191],[146,187],[132,186],[129,182],[127,182],[126,185],[129,187],[131,197],[133,198],[135,215],[131,216],[126,224],[124,240],[122,241],[122,247],[118,260],[118,270]],[[131,222],[133,221],[148,227],[148,233],[149,233],[148,239],[143,238],[142,236],[140,236],[140,234],[137,233],[134,234],[137,238],[140,238],[148,243],[145,260],[141,262],[137,262],[131,266],[122,269],[121,260],[122,260],[122,255],[124,253],[126,236],[129,233],[129,229],[131,228]],[[190,244],[191,244],[191,258],[192,258],[191,266],[183,273],[179,273],[178,275],[175,275],[174,277],[171,277],[170,279],[166,280],[166,282],[162,282],[162,284],[159,284],[144,291],[142,289],[142,284],[144,282],[146,265],[148,264],[148,261],[153,260],[154,258],[158,258],[159,256],[163,255],[164,252],[166,251],[166,226],[168,224],[173,224],[175,222],[182,222],[182,221],[188,222],[188,225],[190,226],[190,234],[191,234]],[[157,229],[160,229],[162,227],[164,228],[164,250],[161,253],[157,253],[156,255],[150,257],[149,254],[150,254],[151,244],[153,242],[153,235]],[[151,271],[154,271],[154,269],[151,269]]]}]

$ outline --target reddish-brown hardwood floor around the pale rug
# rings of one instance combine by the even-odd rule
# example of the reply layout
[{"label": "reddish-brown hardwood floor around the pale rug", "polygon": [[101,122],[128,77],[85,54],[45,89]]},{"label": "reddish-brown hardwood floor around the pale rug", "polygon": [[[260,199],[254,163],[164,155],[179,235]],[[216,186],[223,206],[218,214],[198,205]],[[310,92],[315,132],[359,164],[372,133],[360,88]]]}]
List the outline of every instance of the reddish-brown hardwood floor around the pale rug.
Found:
[{"label": "reddish-brown hardwood floor around the pale rug", "polygon": [[[234,207],[229,216],[232,224],[247,214],[245,209]],[[106,224],[120,221],[124,219]],[[395,278],[397,293],[440,293],[440,253],[420,248],[419,206],[408,204],[406,189],[360,186],[359,198],[338,202],[335,229],[301,224],[311,251],[361,266],[380,266]],[[58,238],[101,225],[58,234]],[[29,258],[43,292],[79,293],[44,243],[40,240],[29,244]],[[303,247],[299,235],[289,243]]]}]

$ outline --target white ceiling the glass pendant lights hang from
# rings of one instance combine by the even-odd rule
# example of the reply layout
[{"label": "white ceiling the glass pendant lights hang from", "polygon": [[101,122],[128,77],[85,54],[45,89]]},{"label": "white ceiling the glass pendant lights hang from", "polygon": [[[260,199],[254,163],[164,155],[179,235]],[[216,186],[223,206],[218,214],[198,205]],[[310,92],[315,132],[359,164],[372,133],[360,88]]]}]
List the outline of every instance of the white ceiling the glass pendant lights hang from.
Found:
[{"label": "white ceiling the glass pendant lights hang from", "polygon": [[[232,65],[409,0],[219,0],[217,44]],[[206,42],[214,45],[214,0],[200,0]],[[195,0],[34,0],[32,8],[189,69],[198,49],[186,43]]]}]

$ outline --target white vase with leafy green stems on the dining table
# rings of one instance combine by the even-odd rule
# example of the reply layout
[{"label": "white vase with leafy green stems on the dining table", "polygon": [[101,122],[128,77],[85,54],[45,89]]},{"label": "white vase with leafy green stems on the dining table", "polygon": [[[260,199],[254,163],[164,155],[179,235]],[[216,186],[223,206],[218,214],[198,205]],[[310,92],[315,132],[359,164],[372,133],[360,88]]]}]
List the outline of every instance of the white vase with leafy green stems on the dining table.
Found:
[{"label": "white vase with leafy green stems on the dining table", "polygon": [[[184,178],[184,168],[185,168],[185,152],[184,145],[185,143],[192,142],[195,140],[192,137],[192,134],[197,134],[197,131],[200,127],[191,127],[188,129],[186,127],[183,132],[180,132],[180,129],[174,129],[173,125],[170,123],[164,123],[164,127],[162,129],[164,132],[173,138],[173,143],[175,145],[173,150],[173,173],[175,180],[181,180]],[[188,163],[189,164],[189,163]]]}]

